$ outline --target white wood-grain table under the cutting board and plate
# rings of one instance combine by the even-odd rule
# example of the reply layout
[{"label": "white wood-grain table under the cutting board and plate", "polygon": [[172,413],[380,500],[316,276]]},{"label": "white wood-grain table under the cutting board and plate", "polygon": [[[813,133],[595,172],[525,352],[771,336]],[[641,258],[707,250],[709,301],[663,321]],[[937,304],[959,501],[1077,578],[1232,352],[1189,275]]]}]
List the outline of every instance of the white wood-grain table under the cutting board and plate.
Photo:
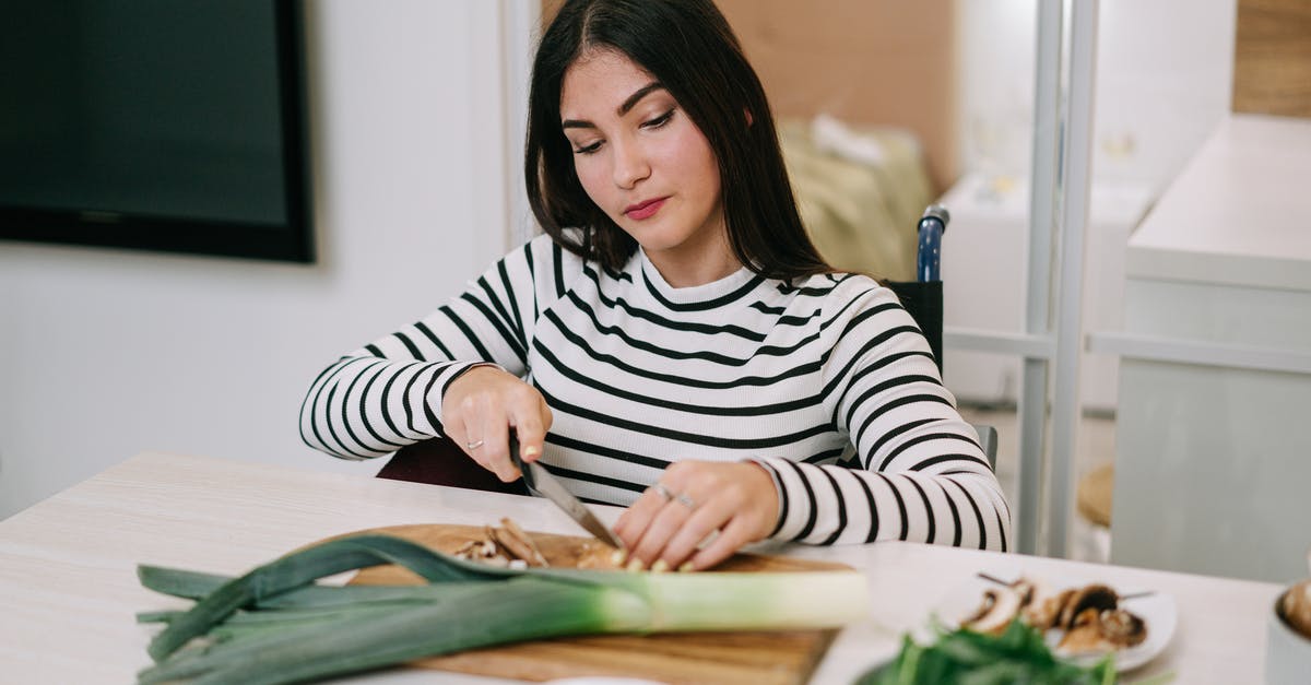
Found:
[{"label": "white wood-grain table under the cutting board and plate", "polygon": [[[617,509],[604,508],[614,518]],[[185,606],[143,589],[138,563],[240,573],[296,546],[363,528],[488,524],[510,516],[534,530],[577,533],[545,500],[245,462],[146,453],[0,521],[0,681],[131,682],[148,665],[140,610]],[[1265,618],[1278,585],[1163,571],[880,543],[785,546],[869,576],[871,618],[843,630],[813,682],[848,684],[891,656],[949,589],[979,570],[1020,567],[1155,588],[1179,605],[1171,646],[1141,673],[1177,682],[1259,682]],[[489,682],[395,669],[357,681]]]}]

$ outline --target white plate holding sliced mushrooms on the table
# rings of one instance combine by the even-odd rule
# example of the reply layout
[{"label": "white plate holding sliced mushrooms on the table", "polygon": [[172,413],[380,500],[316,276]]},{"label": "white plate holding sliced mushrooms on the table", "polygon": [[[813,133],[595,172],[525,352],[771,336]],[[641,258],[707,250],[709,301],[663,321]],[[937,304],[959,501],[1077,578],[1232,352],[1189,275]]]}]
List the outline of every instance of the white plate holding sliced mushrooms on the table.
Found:
[{"label": "white plate holding sliced mushrooms on the table", "polygon": [[[1020,577],[1021,573],[1017,570],[985,570],[988,576],[1011,581]],[[1029,577],[1034,580],[1041,580],[1051,587],[1054,591],[1061,591],[1066,588],[1078,588],[1088,585],[1089,583],[1103,583],[1096,577],[1053,577],[1042,576],[1038,573],[1028,573]],[[1135,588],[1135,587],[1117,587],[1108,584],[1117,594],[1134,594],[1138,592],[1146,592],[1151,588]],[[986,580],[979,576],[970,576],[970,580],[953,588],[947,596],[943,597],[940,602],[933,606],[933,614],[937,621],[947,625],[948,627],[957,627],[965,617],[974,613],[978,609],[979,602],[983,600],[983,591],[988,588],[998,587],[996,583]],[[1175,608],[1175,598],[1163,592],[1152,592],[1142,597],[1134,597],[1124,600],[1120,604],[1121,608],[1127,609],[1130,613],[1143,619],[1147,626],[1147,639],[1141,644],[1134,647],[1127,647],[1120,650],[1116,654],[1116,671],[1125,672],[1133,671],[1159,655],[1167,644],[1169,644],[1171,636],[1175,635],[1175,623],[1179,619],[1179,612]],[[1061,640],[1061,631],[1049,630],[1047,631],[1047,646],[1055,650],[1057,643]],[[1071,660],[1082,664],[1093,664],[1099,661],[1100,656],[1078,656]]]}]

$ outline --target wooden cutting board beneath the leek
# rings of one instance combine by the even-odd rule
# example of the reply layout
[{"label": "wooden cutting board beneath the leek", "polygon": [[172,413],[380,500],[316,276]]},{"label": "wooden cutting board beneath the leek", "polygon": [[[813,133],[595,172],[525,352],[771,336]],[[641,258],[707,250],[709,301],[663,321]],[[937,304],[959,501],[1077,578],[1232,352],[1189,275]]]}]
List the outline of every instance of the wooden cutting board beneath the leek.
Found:
[{"label": "wooden cutting board beneath the leek", "polygon": [[[471,539],[482,539],[482,528],[408,525],[366,530],[399,535],[421,545],[455,551]],[[585,538],[528,533],[553,566],[570,566]],[[830,571],[850,567],[834,563],[738,554],[714,571]],[[405,568],[380,566],[355,575],[351,584],[400,585],[422,580]],[[598,635],[505,644],[438,656],[413,665],[545,681],[552,678],[611,676],[648,678],[669,684],[722,682],[741,685],[801,684],[814,671],[836,630],[772,633],[666,633],[659,635]]]}]

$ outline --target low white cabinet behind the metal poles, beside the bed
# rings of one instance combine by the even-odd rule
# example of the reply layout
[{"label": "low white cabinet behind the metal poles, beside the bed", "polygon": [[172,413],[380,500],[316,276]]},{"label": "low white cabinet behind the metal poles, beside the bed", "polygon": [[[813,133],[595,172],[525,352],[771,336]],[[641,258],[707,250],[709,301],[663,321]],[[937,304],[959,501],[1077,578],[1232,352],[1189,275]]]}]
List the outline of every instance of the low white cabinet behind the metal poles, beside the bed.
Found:
[{"label": "low white cabinet behind the metal poles, beside the bed", "polygon": [[[1118,331],[1124,306],[1125,243],[1151,199],[1139,185],[1095,185],[1084,264],[1083,327]],[[943,322],[948,328],[1019,333],[1024,328],[1029,239],[1028,178],[966,175],[943,197],[952,222],[943,236]],[[945,349],[947,387],[965,402],[1013,404],[1017,357]],[[1116,405],[1116,358],[1086,354],[1084,407]]]}]

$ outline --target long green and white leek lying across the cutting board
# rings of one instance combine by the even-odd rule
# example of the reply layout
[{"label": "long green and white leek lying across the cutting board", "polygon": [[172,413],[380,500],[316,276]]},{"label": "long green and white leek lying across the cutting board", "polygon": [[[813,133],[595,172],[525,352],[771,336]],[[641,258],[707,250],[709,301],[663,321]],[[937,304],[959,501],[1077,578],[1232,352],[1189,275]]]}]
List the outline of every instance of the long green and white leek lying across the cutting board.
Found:
[{"label": "long green and white leek lying across the cutting board", "polygon": [[[396,563],[429,581],[316,580]],[[142,566],[147,588],[197,600],[163,622],[139,682],[278,684],[518,640],[604,633],[836,627],[867,612],[853,571],[628,573],[486,567],[389,535],[308,547],[236,579]]]}]

